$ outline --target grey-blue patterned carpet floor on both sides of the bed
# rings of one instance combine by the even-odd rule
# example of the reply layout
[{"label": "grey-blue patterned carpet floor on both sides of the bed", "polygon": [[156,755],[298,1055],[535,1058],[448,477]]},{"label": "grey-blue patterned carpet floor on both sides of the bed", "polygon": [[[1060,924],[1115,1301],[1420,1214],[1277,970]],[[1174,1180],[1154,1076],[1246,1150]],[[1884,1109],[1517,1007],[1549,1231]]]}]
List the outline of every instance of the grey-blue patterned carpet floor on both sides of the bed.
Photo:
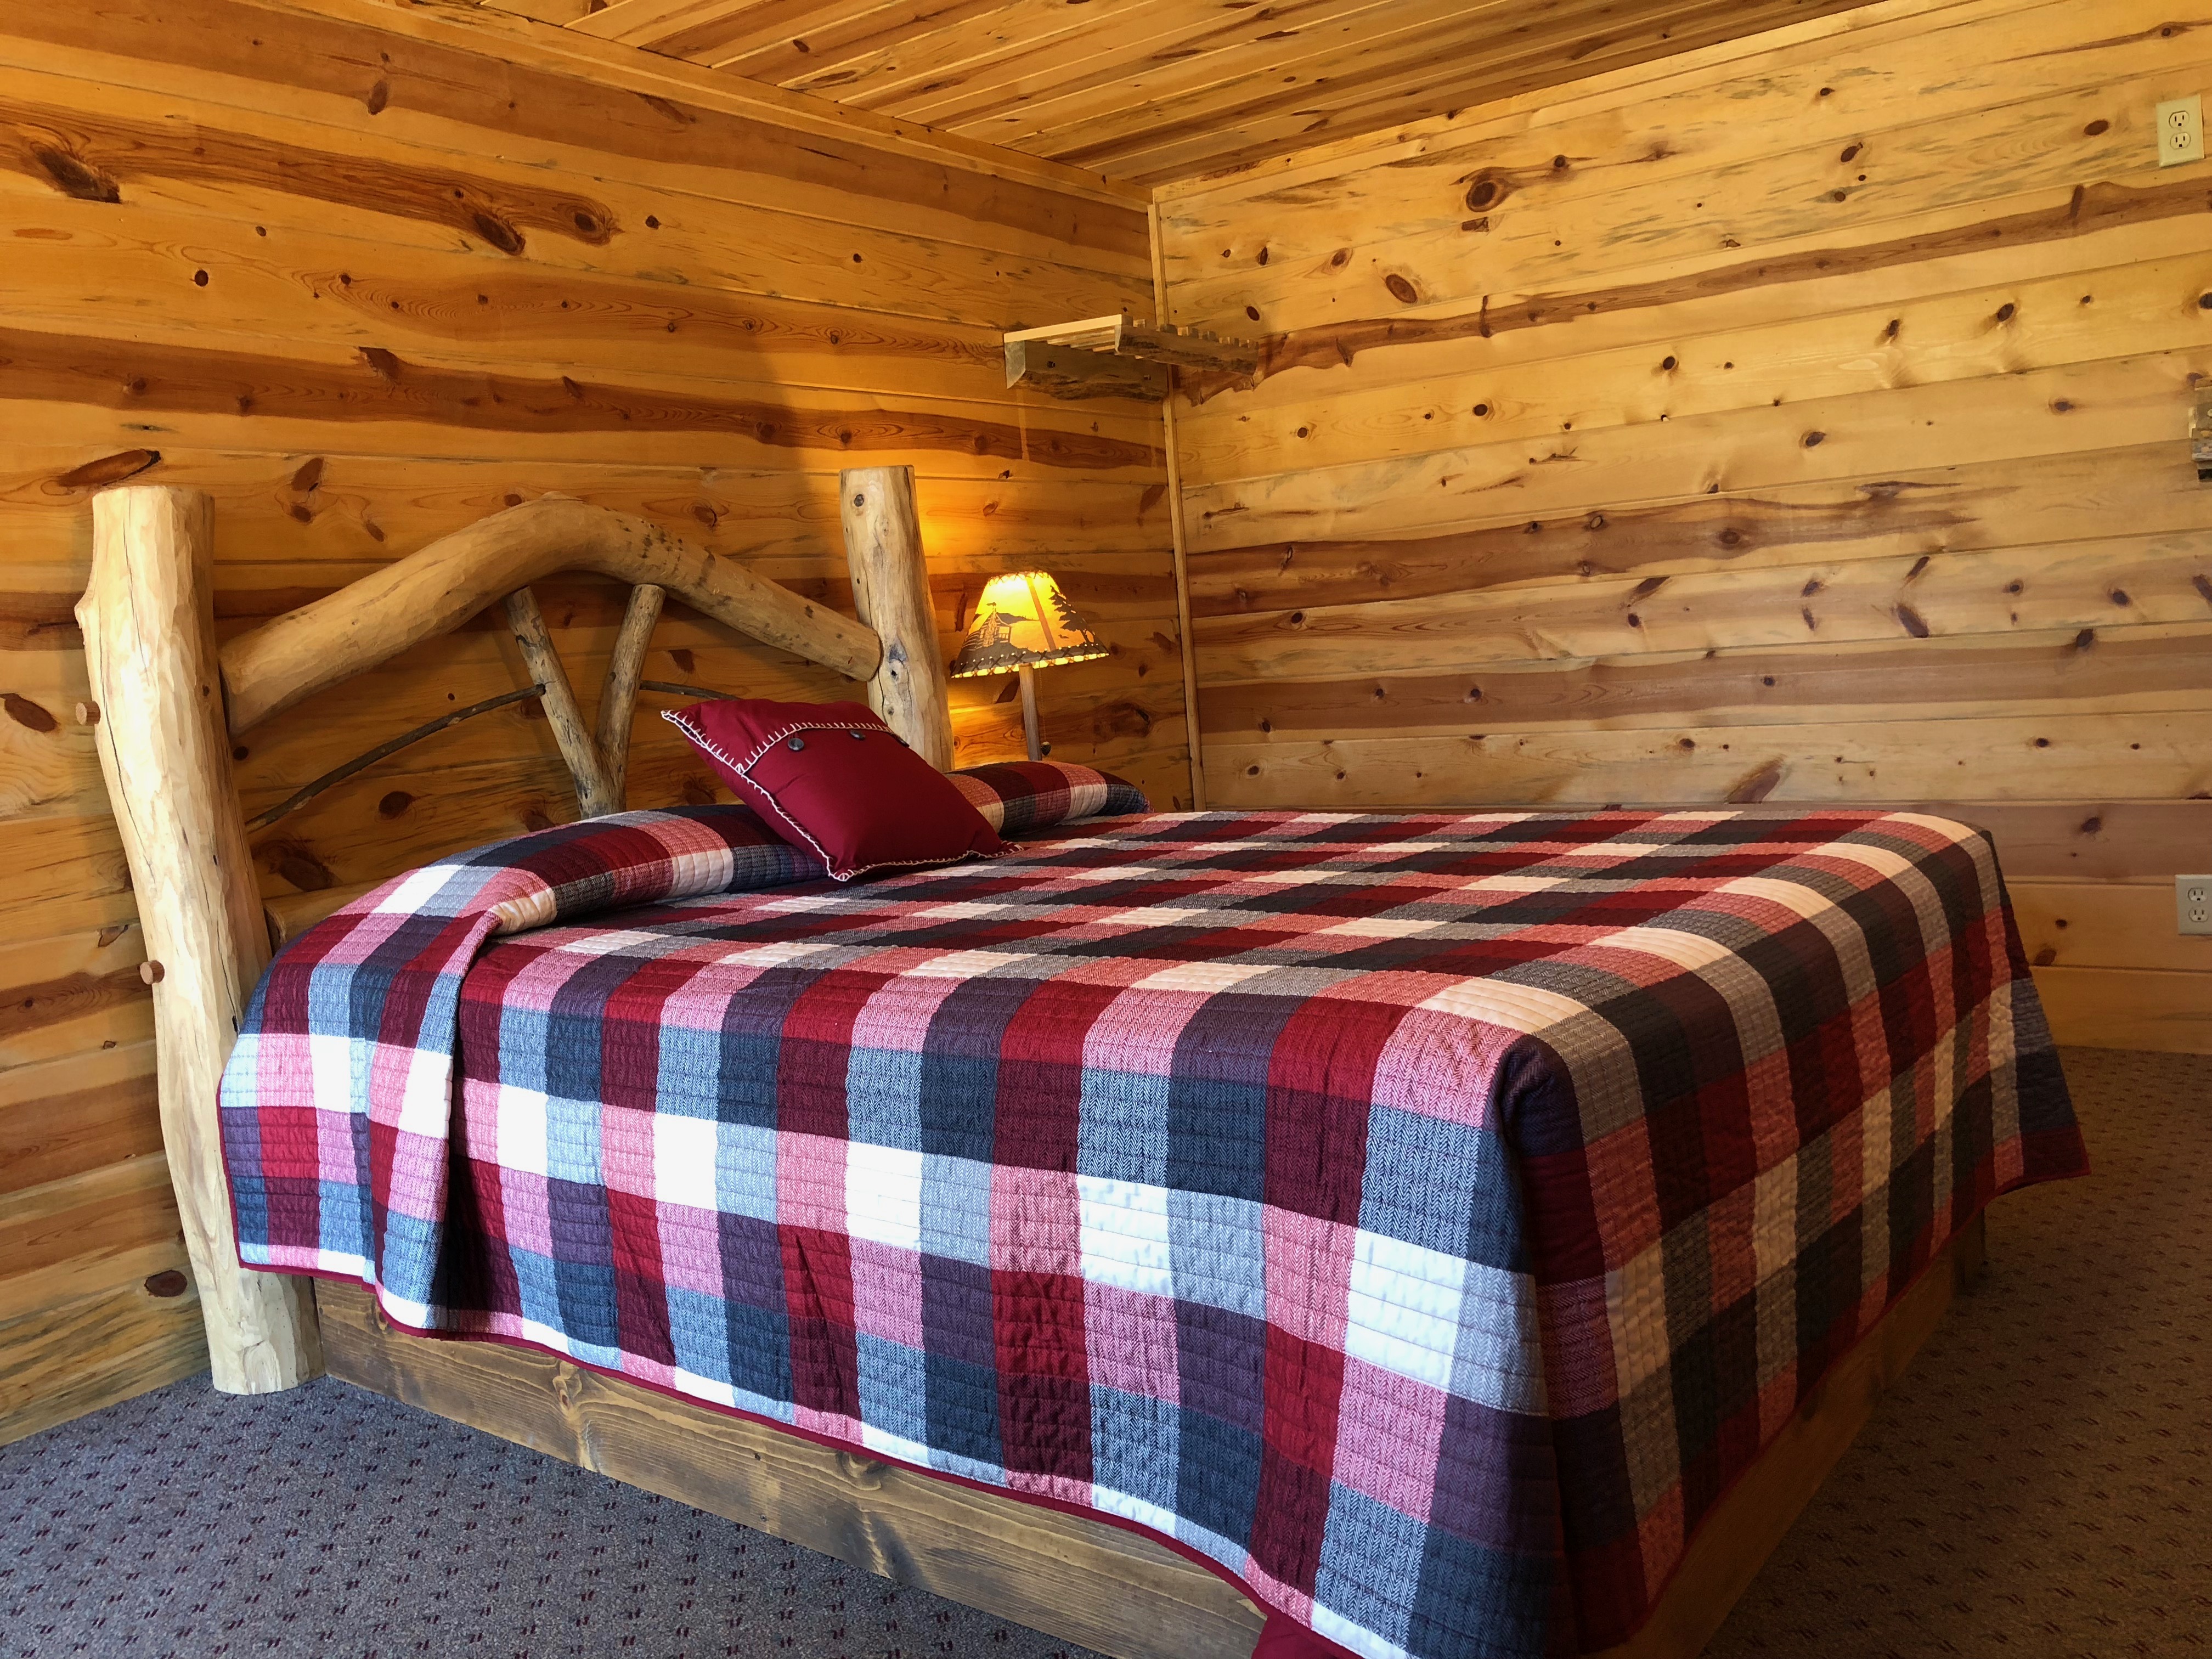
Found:
[{"label": "grey-blue patterned carpet floor on both sides of the bed", "polygon": [[[2070,1051],[2097,1172],[1991,1212],[1710,1659],[2212,1655],[2212,1060]],[[314,1383],[0,1449],[0,1659],[1077,1650]]]}]

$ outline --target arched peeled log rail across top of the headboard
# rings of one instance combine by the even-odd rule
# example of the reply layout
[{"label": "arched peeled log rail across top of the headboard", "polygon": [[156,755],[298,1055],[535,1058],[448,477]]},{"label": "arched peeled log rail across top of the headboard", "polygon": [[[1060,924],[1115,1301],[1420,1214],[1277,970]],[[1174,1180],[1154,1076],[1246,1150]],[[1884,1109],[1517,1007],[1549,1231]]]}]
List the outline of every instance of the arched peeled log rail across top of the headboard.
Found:
[{"label": "arched peeled log rail across top of the headboard", "polygon": [[515,588],[555,571],[650,582],[761,644],[867,679],[876,637],[827,606],[717,560],[641,518],[542,495],[453,531],[223,646],[232,734],[303,697],[449,633]]}]

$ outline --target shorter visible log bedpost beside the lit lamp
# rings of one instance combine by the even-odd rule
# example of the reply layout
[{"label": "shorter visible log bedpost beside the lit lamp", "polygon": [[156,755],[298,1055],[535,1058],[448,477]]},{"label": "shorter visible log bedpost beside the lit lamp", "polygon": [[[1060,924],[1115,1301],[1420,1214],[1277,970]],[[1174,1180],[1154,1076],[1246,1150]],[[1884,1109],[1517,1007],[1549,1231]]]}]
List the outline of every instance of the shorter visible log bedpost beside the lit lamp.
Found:
[{"label": "shorter visible log bedpost beside the lit lamp", "polygon": [[953,763],[951,679],[929,604],[914,469],[847,467],[836,478],[852,604],[883,639],[883,666],[867,684],[867,706],[907,739],[907,748],[947,770]]}]

